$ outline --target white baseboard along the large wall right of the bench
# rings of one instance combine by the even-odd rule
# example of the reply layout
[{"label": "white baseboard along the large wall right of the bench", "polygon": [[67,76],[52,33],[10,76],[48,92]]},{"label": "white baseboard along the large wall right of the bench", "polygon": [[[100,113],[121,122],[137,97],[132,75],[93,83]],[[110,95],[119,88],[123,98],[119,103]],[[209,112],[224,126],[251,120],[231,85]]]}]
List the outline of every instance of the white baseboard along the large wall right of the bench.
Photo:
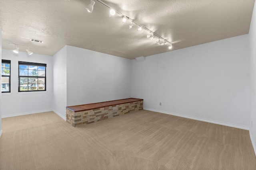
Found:
[{"label": "white baseboard along the large wall right of the bench", "polygon": [[155,111],[155,112],[159,112],[159,113],[165,113],[168,115],[174,115],[174,116],[179,116],[179,117],[185,117],[188,119],[194,119],[194,120],[199,120],[199,121],[205,121],[208,123],[214,123],[214,124],[218,124],[218,125],[224,125],[224,126],[229,126],[229,127],[235,127],[238,129],[244,129],[244,130],[249,130],[248,127],[243,127],[243,126],[238,126],[238,125],[232,125],[229,123],[224,123],[224,122],[219,122],[219,121],[212,121],[212,120],[207,120],[207,119],[201,119],[198,117],[192,117],[192,116],[186,116],[186,115],[181,115],[181,114],[177,114],[177,113],[171,113],[171,112],[166,112],[166,111],[160,111],[160,110],[156,110],[156,109],[149,109],[149,108],[143,108],[144,110],[149,110],[149,111]]}]

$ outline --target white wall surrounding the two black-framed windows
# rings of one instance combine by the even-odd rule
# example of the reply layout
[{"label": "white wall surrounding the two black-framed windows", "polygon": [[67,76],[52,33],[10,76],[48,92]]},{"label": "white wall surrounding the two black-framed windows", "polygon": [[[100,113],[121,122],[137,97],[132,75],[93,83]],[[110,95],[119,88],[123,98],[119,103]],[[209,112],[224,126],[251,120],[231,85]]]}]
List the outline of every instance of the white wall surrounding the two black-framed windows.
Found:
[{"label": "white wall surrounding the two black-framed windows", "polygon": [[[11,61],[11,93],[2,94],[2,117],[52,110],[52,56],[2,49],[2,59]],[[18,92],[18,61],[47,64],[46,92]]]}]

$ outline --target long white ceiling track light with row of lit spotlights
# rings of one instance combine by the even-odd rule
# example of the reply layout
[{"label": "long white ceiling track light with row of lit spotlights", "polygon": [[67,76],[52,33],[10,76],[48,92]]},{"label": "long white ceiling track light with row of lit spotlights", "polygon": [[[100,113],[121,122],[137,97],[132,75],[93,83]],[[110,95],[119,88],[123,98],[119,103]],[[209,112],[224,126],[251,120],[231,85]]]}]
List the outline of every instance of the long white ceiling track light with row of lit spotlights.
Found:
[{"label": "long white ceiling track light with row of lit spotlights", "polygon": [[[99,2],[100,4],[106,6],[107,8],[109,8],[109,9],[110,9],[110,16],[114,16],[114,15],[118,14],[120,17],[122,17],[123,23],[124,23],[126,20],[131,21],[131,25],[129,25],[129,29],[131,29],[132,27],[134,27],[134,25],[137,25],[139,31],[142,31],[143,29],[145,29],[146,31],[149,32],[149,34],[152,33],[152,35],[151,35],[151,34],[148,35],[148,38],[154,39],[155,37],[158,37],[158,41],[156,41],[156,44],[157,44],[157,45],[165,45],[165,44],[167,43],[168,45],[170,45],[170,47],[176,47],[176,48],[178,48],[178,47],[177,47],[176,45],[174,45],[173,43],[167,41],[166,39],[164,39],[163,37],[157,35],[156,33],[153,33],[153,31],[151,31],[150,29],[148,29],[145,25],[141,25],[140,23],[135,22],[134,20],[132,20],[132,19],[129,18],[128,16],[126,16],[126,15],[120,13],[120,12],[115,11],[115,10],[114,10],[112,7],[110,7],[108,4],[106,4],[105,2],[102,2],[102,0],[95,0],[95,1],[97,1],[97,2]],[[92,4],[92,3],[93,3],[93,4]],[[91,4],[92,4],[92,6],[94,5],[94,1],[93,1],[93,0],[91,0]],[[86,9],[87,9],[87,8],[86,8]],[[160,39],[161,39],[162,41],[160,41]],[[170,48],[170,47],[169,47],[169,48]]]}]

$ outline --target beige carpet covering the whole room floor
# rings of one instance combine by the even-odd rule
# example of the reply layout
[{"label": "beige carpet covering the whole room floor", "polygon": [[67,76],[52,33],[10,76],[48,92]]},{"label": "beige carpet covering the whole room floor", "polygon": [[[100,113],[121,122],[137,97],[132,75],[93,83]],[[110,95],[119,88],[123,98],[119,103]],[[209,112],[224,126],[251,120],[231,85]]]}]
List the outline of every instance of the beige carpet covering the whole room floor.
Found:
[{"label": "beige carpet covering the whole room floor", "polygon": [[138,111],[80,127],[53,112],[2,119],[1,170],[256,170],[249,132]]}]

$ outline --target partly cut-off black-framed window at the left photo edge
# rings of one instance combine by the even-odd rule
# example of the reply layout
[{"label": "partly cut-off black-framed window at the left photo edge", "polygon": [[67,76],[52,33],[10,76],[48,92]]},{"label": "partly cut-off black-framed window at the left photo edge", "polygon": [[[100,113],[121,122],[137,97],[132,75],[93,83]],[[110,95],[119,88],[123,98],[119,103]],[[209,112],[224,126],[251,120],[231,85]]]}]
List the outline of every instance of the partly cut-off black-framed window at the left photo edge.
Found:
[{"label": "partly cut-off black-framed window at the left photo edge", "polygon": [[1,82],[1,91],[2,93],[11,92],[11,61],[2,60],[2,82]]}]

